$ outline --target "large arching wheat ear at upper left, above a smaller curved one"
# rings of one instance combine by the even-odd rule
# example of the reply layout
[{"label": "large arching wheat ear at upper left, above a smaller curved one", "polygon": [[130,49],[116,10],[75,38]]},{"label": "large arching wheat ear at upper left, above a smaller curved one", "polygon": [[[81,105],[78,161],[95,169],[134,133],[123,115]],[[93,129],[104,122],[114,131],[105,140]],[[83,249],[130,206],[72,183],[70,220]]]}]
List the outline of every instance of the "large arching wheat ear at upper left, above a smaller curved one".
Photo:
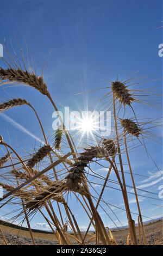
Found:
[{"label": "large arching wheat ear at upper left, above a smaller curved one", "polygon": [[30,74],[28,71],[0,68],[0,80],[9,80],[11,82],[28,84],[29,86],[39,90],[40,93],[49,95],[43,78],[41,76],[37,77],[35,74]]}]

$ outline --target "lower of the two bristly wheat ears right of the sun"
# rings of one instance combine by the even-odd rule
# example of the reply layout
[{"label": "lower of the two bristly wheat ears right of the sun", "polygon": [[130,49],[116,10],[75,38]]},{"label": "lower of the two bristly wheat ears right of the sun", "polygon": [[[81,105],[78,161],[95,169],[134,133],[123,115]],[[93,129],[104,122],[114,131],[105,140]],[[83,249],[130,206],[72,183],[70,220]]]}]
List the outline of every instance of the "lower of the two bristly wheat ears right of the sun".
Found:
[{"label": "lower of the two bristly wheat ears right of the sun", "polygon": [[141,129],[134,121],[130,119],[121,119],[121,125],[125,132],[129,133],[130,135],[139,137]]}]

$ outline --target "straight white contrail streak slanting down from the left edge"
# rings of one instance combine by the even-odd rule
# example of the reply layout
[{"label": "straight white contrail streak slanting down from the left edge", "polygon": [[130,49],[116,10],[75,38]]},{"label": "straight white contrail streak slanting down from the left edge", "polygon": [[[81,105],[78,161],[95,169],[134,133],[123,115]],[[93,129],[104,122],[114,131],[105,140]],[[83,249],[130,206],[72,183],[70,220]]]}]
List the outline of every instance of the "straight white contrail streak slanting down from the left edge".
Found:
[{"label": "straight white contrail streak slanting down from the left edge", "polygon": [[42,141],[39,137],[37,137],[36,135],[34,135],[34,133],[30,132],[29,130],[26,129],[26,127],[18,124],[14,119],[8,117],[8,115],[1,113],[0,117],[4,118],[6,121],[8,121],[12,126],[16,127],[18,130],[26,133],[27,135],[29,135],[30,137],[34,138],[36,141],[42,143],[43,145],[45,144],[44,141]]}]

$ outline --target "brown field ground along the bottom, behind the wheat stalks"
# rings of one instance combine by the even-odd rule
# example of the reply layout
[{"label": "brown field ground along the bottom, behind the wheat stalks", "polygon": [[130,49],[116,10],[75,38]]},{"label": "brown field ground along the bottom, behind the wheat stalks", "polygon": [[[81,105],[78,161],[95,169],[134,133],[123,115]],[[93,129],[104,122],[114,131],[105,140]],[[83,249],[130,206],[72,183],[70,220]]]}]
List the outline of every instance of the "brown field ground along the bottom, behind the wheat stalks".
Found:
[{"label": "brown field ground along the bottom, behind the wheat stalks", "polygon": [[[162,220],[160,220],[145,225],[147,245],[163,245],[162,224],[163,222]],[[5,225],[0,225],[0,227],[3,231],[4,237],[8,245],[32,245],[32,241],[30,239],[30,234],[28,231],[6,227]],[[128,233],[128,229],[112,231],[112,235],[114,236],[118,245],[126,245]],[[137,228],[136,233],[137,237],[139,237]],[[55,239],[55,236],[53,234],[43,234],[36,232],[34,232],[33,234],[35,237],[36,245],[58,245],[58,241]],[[92,235],[92,233],[88,234],[87,239],[89,239],[89,237],[91,237]],[[76,244],[75,240],[74,244]],[[95,245],[95,242],[92,241],[91,244]],[[0,245],[4,245],[1,232]]]}]

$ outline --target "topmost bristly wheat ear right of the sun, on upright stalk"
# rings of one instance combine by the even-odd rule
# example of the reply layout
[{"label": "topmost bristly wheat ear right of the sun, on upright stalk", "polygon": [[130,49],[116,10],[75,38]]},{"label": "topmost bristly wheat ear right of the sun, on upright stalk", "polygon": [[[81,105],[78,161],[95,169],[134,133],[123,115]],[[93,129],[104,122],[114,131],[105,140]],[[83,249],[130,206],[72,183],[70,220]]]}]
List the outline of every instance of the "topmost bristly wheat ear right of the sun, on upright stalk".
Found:
[{"label": "topmost bristly wheat ear right of the sun, on upright stalk", "polygon": [[132,94],[130,93],[130,90],[125,86],[124,83],[120,81],[115,81],[111,83],[111,90],[115,95],[115,98],[120,101],[124,106],[131,105],[133,101],[136,101]]}]

